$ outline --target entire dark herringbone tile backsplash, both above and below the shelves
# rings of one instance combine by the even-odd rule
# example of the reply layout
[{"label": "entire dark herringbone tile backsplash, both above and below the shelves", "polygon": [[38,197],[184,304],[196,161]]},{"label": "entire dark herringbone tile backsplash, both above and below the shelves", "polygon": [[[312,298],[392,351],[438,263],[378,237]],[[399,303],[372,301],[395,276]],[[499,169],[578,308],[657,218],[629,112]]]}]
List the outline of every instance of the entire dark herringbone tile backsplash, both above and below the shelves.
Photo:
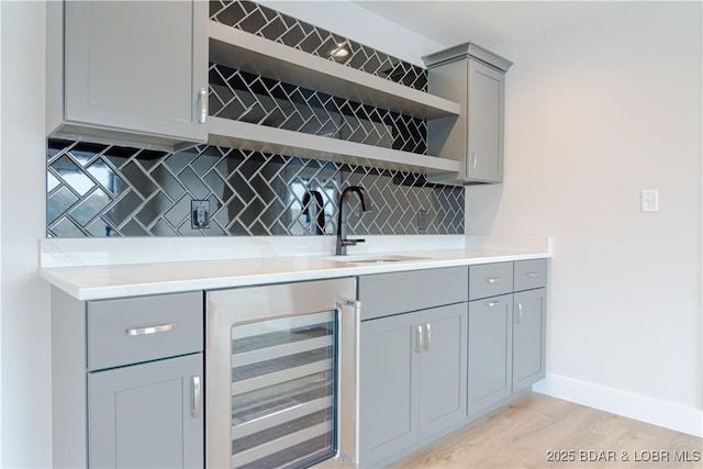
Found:
[{"label": "entire dark herringbone tile backsplash, both above and below the shelves", "polygon": [[[250,1],[211,1],[211,18],[270,41],[425,91],[427,74]],[[347,54],[331,54],[338,47]],[[387,110],[210,65],[210,113],[258,125],[425,154],[427,125]],[[87,142],[47,143],[47,235],[325,235],[347,186],[372,210],[352,210],[352,234],[462,234],[464,190],[420,175],[202,145],[165,153]],[[210,226],[191,228],[191,201]],[[356,203],[356,202],[355,202]],[[421,222],[422,219],[422,222]]]}]

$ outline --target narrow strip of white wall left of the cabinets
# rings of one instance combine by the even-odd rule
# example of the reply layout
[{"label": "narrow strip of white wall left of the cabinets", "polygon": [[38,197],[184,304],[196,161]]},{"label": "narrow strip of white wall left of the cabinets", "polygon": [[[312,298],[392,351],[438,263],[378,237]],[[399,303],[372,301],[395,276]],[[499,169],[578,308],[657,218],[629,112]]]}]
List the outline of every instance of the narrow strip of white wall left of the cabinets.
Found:
[{"label": "narrow strip of white wall left of the cabinets", "polygon": [[37,239],[46,232],[43,2],[2,1],[0,152],[0,420],[5,468],[51,467],[48,287]]}]

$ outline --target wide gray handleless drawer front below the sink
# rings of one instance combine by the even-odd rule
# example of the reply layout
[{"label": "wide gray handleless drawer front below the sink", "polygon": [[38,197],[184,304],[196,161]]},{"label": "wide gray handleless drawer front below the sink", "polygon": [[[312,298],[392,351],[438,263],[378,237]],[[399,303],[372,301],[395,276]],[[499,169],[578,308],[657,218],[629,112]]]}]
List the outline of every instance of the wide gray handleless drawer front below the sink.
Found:
[{"label": "wide gray handleless drawer front below the sink", "polygon": [[466,267],[359,277],[361,320],[468,300]]}]

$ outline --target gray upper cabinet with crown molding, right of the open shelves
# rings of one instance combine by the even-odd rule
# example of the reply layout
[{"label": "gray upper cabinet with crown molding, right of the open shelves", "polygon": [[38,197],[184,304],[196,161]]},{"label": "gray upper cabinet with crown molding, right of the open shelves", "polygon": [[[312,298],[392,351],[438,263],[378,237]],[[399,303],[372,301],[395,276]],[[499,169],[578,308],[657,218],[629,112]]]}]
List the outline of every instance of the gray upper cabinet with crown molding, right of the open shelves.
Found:
[{"label": "gray upper cabinet with crown molding, right of the open shelves", "polygon": [[505,72],[512,63],[470,43],[423,59],[429,92],[461,105],[458,118],[427,123],[428,153],[459,161],[459,172],[429,179],[459,185],[502,182]]}]

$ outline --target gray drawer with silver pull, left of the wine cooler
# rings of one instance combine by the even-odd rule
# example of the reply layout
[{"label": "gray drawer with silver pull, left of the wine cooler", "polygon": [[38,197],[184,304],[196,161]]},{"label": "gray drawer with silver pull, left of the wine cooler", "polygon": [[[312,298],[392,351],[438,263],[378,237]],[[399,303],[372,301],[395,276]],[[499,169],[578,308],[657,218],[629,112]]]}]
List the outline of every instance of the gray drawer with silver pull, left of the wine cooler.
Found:
[{"label": "gray drawer with silver pull, left of the wine cooler", "polygon": [[88,303],[88,369],[201,351],[202,292]]}]

